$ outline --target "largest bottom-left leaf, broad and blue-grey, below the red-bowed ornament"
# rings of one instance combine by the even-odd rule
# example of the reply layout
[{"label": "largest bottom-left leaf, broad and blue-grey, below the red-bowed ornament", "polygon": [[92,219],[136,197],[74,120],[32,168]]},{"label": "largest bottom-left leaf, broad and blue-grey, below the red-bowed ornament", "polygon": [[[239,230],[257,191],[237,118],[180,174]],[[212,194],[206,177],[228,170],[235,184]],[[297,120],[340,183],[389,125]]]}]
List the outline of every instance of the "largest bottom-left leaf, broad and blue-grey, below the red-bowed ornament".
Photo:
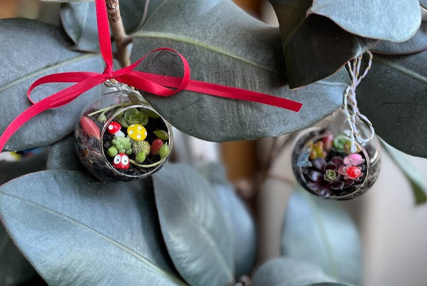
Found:
[{"label": "largest bottom-left leaf, broad and blue-grey, below the red-bowed ornament", "polygon": [[107,184],[50,170],[0,187],[0,214],[49,285],[182,285],[167,256],[150,182]]}]

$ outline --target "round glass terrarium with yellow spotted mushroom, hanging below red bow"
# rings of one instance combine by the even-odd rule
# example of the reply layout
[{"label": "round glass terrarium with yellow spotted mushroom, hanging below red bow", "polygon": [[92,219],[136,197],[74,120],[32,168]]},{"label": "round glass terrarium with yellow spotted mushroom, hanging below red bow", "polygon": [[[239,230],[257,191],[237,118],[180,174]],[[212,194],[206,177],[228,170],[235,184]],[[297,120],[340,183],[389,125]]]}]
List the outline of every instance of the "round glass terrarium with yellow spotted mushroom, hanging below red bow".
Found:
[{"label": "round glass terrarium with yellow spotted mushroom, hanging below red bow", "polygon": [[76,124],[76,150],[103,181],[125,182],[158,171],[172,148],[172,128],[142,96],[122,83],[85,108]]}]

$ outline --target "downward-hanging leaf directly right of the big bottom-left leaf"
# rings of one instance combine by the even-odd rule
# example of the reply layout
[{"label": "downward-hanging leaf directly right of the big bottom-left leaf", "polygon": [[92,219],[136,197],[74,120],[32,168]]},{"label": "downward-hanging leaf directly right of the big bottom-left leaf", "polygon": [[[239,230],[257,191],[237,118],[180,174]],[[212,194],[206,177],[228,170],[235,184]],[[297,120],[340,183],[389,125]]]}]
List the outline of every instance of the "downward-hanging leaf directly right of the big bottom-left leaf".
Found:
[{"label": "downward-hanging leaf directly right of the big bottom-left leaf", "polygon": [[153,175],[156,205],[167,250],[192,286],[233,282],[232,234],[209,182],[184,165]]}]

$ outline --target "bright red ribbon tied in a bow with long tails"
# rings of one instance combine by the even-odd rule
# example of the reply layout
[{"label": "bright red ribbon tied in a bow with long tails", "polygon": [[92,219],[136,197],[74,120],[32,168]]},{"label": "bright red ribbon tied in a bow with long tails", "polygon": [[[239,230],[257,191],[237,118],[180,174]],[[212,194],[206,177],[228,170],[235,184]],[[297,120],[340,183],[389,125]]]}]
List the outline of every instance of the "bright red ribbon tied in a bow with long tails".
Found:
[{"label": "bright red ribbon tied in a bow with long tails", "polygon": [[[102,58],[105,61],[106,68],[102,74],[94,72],[68,72],[58,73],[44,76],[37,79],[28,89],[28,98],[33,103],[31,107],[22,112],[14,121],[4,130],[0,137],[0,151],[5,143],[21,127],[31,118],[48,109],[57,108],[66,105],[73,101],[82,93],[92,89],[93,87],[103,83],[107,79],[116,79],[122,83],[144,90],[148,93],[169,96],[179,93],[182,90],[193,91],[197,93],[228,97],[246,101],[259,102],[272,106],[281,107],[298,112],[302,104],[290,99],[280,98],[272,95],[258,93],[250,90],[224,86],[204,81],[190,79],[190,66],[187,60],[176,50],[171,48],[158,48],[150,53],[159,50],[169,50],[177,53],[184,65],[184,74],[182,78],[162,76],[146,72],[134,71],[133,69],[140,64],[150,53],[142,57],[140,60],[131,64],[128,67],[113,70],[113,53],[111,50],[110,27],[108,24],[107,9],[104,0],[96,0],[97,21],[99,32],[99,48]],[[66,89],[57,92],[49,97],[34,102],[31,99],[33,89],[41,84],[52,82],[77,82],[76,84],[67,87]],[[175,89],[169,89],[175,88]]]}]

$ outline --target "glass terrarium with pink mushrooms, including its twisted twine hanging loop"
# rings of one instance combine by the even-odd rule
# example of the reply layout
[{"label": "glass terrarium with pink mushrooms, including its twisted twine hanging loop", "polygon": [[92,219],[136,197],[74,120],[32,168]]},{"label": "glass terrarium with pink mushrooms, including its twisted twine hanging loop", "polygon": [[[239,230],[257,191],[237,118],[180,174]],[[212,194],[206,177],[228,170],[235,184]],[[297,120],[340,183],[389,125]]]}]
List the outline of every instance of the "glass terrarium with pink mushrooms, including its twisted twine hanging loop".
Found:
[{"label": "glass terrarium with pink mushrooms, including its twisted twine hanging loop", "polygon": [[357,108],[356,87],[372,61],[359,74],[362,56],[348,63],[351,85],[343,108],[320,127],[300,135],[294,147],[292,165],[296,180],[320,197],[347,200],[360,196],[375,183],[379,174],[379,145],[374,128]]}]

